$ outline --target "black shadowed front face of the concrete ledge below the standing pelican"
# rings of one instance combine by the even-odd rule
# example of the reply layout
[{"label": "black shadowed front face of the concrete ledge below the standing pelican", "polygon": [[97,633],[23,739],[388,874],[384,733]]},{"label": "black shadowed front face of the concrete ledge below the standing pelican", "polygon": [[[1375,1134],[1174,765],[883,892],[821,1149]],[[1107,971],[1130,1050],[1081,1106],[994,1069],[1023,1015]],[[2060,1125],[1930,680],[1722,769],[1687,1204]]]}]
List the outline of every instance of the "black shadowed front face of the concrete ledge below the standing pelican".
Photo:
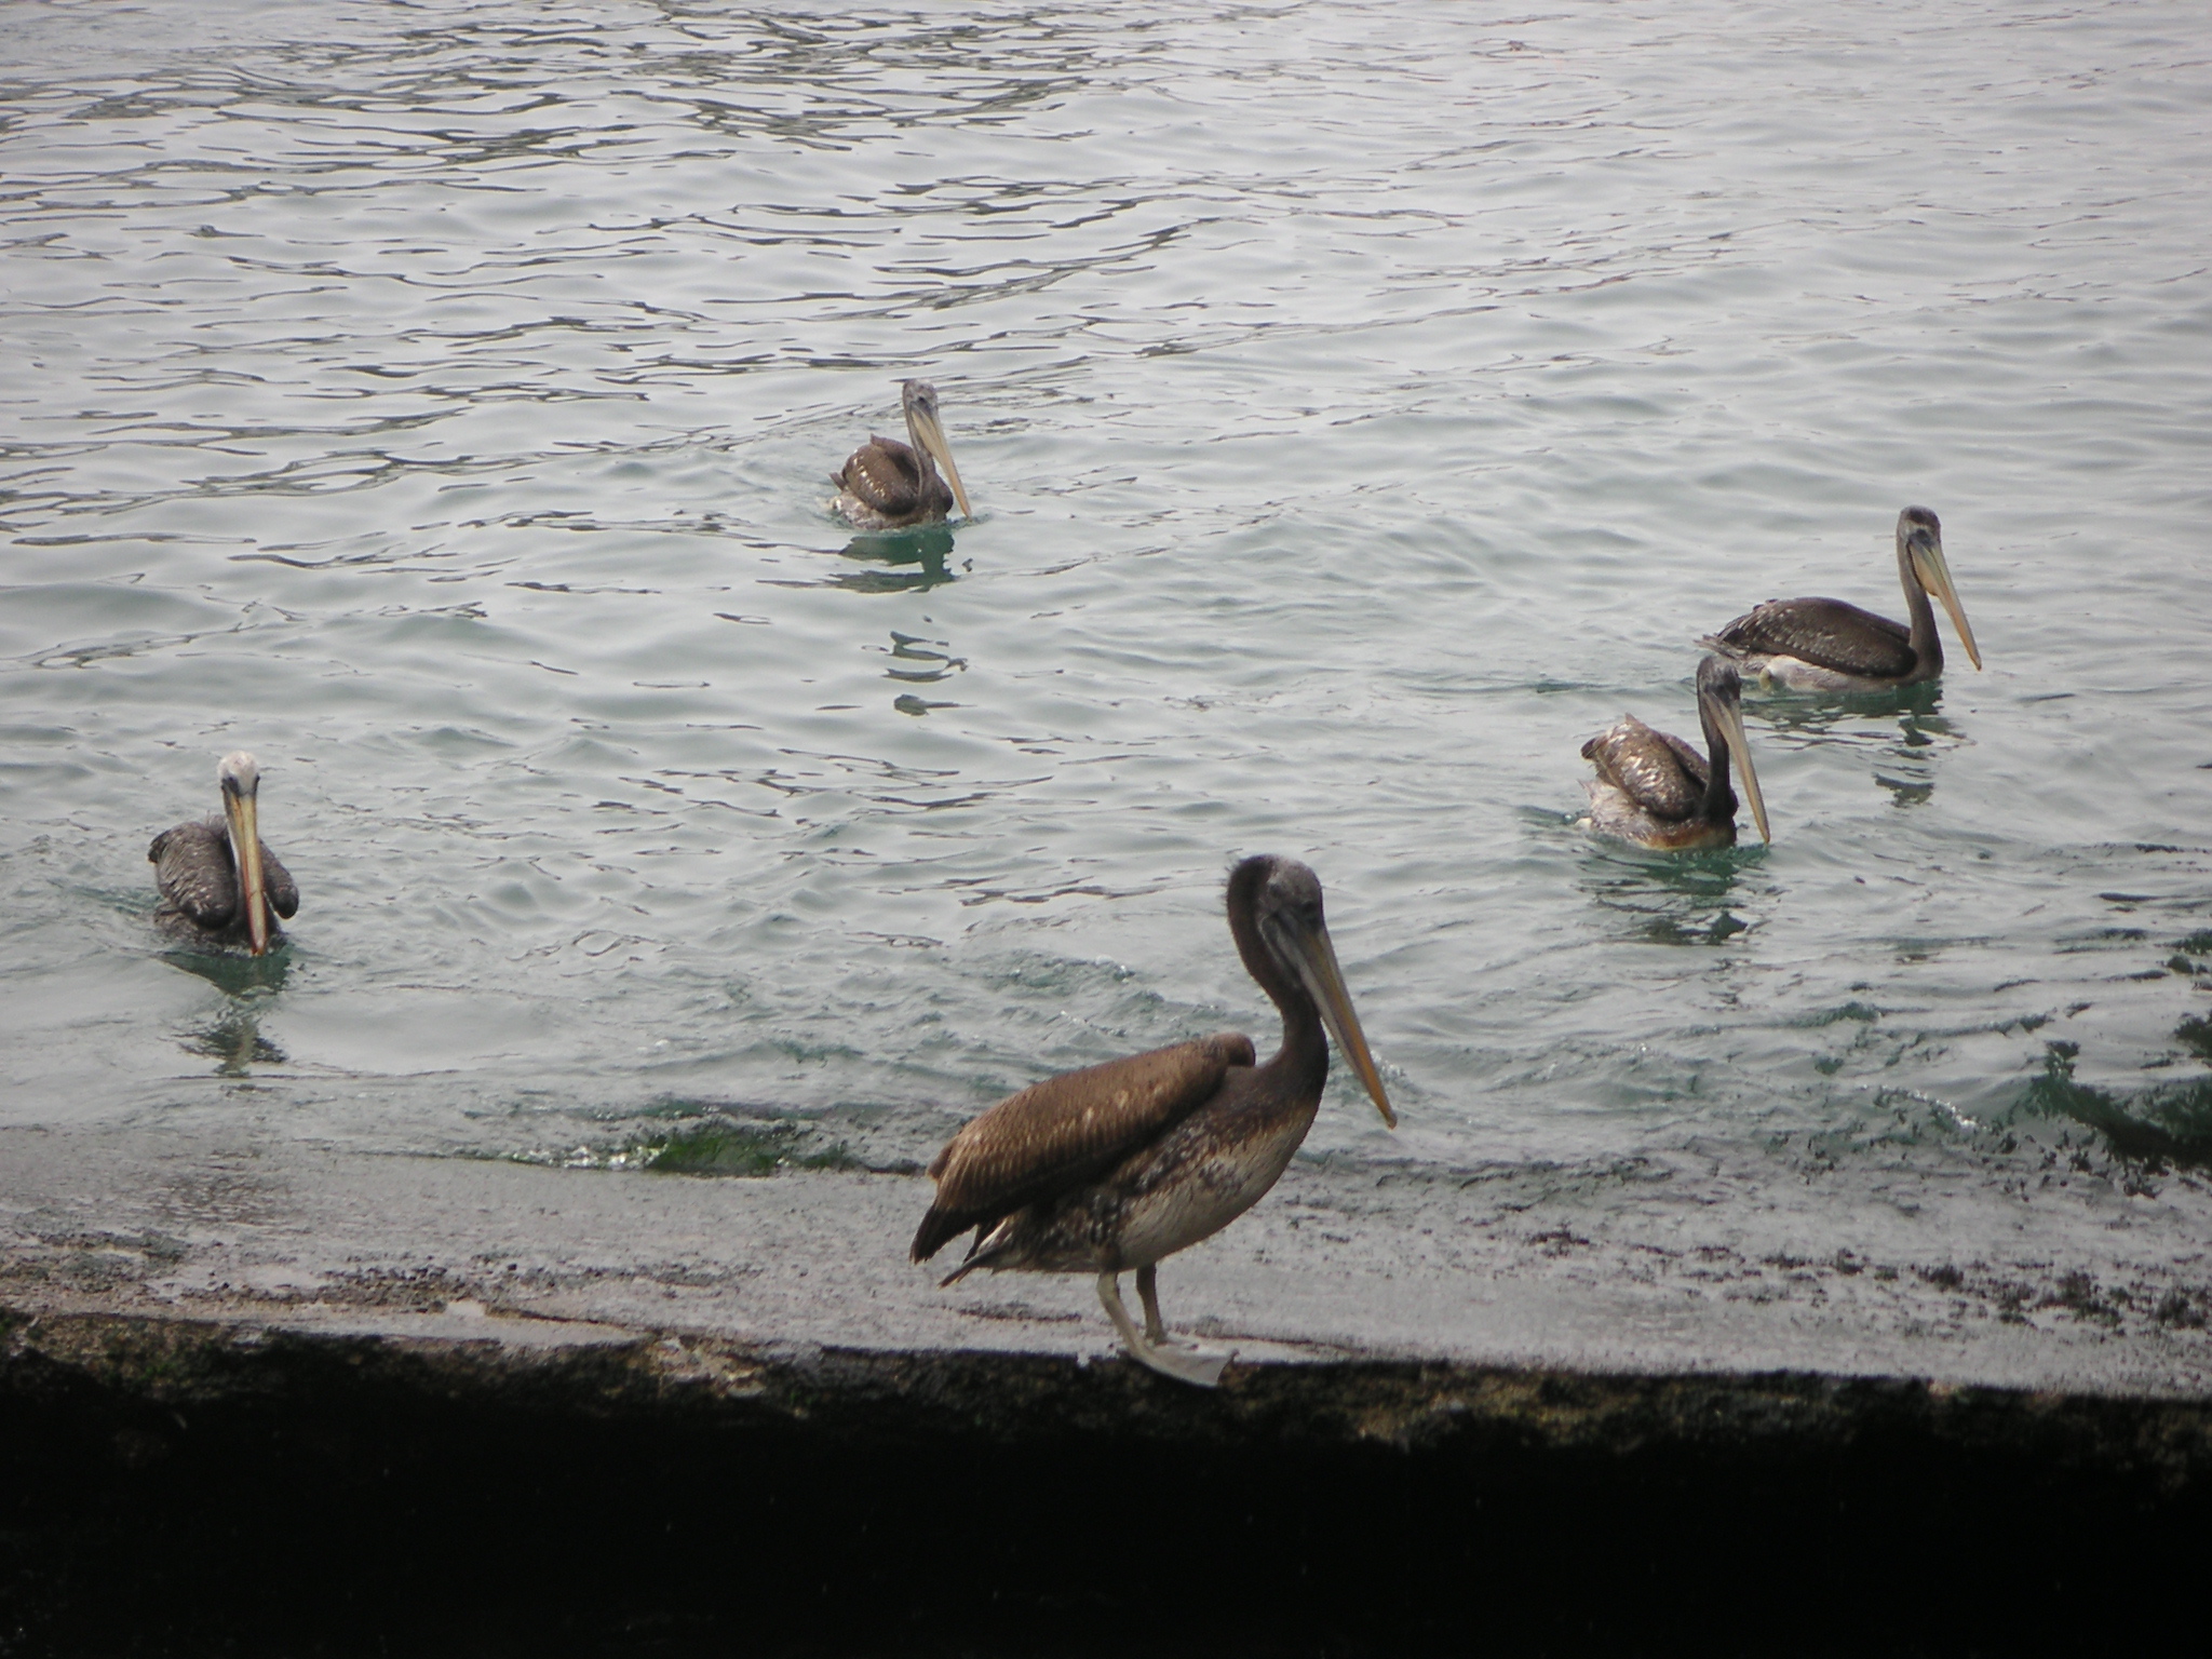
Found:
[{"label": "black shadowed front face of the concrete ledge below the standing pelican", "polygon": [[2108,1648],[2212,1407],[0,1314],[4,1655]]}]

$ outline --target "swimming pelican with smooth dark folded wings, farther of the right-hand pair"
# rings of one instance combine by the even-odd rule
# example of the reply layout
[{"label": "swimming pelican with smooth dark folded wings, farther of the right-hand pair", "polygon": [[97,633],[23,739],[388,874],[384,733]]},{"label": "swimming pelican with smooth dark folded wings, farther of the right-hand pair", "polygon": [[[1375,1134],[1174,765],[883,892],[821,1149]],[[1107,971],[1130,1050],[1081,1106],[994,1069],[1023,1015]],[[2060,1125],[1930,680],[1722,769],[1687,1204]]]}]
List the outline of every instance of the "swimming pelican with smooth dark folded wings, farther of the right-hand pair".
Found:
[{"label": "swimming pelican with smooth dark folded wings, farther of the right-hand pair", "polygon": [[1958,641],[1980,668],[1982,653],[1942,557],[1942,524],[1927,507],[1898,513],[1898,582],[1905,586],[1911,628],[1843,599],[1767,599],[1699,644],[1783,690],[1918,686],[1942,672],[1942,639],[1936,637],[1936,611],[1929,606],[1933,593],[1951,613]]}]

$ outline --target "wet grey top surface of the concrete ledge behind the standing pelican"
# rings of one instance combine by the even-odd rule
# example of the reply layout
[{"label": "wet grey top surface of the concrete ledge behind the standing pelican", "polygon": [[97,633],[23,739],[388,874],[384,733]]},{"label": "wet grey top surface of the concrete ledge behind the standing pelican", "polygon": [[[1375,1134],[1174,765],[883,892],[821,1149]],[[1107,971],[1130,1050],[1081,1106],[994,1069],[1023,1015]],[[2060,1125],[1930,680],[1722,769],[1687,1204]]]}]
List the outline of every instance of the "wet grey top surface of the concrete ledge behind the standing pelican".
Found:
[{"label": "wet grey top surface of the concrete ledge behind the standing pelican", "polygon": [[[1254,1363],[1816,1371],[2199,1398],[2212,1254],[2150,1219],[1924,1194],[1854,1206],[1668,1183],[1579,1208],[1482,1172],[1298,1161],[1161,1270],[1172,1325]],[[27,1312],[544,1345],[675,1332],[774,1352],[1115,1360],[1084,1276],[938,1290],[911,1175],[697,1179],[378,1157],[248,1130],[0,1130],[0,1296]],[[2194,1201],[2194,1194],[2181,1194]],[[2199,1206],[2201,1208],[2201,1206]],[[1234,1378],[1234,1371],[1232,1371]]]}]

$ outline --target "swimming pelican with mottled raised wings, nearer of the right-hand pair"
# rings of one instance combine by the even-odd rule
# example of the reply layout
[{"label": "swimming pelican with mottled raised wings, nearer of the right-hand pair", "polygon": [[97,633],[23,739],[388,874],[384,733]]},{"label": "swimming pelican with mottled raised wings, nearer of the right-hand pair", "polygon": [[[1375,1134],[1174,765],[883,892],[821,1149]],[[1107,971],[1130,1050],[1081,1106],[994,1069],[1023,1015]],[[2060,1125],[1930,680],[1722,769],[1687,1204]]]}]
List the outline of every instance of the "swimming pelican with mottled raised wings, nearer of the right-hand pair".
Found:
[{"label": "swimming pelican with mottled raised wings, nearer of the right-hand pair", "polygon": [[1699,661],[1697,717],[1705,728],[1705,754],[1679,737],[1655,732],[1635,714],[1621,714],[1613,730],[1584,743],[1582,759],[1597,768],[1597,776],[1582,785],[1590,792],[1584,823],[1601,836],[1661,852],[1734,847],[1736,792],[1728,787],[1728,759],[1734,757],[1759,838],[1774,841],[1752,748],[1743,739],[1743,681],[1734,664],[1719,657]]}]

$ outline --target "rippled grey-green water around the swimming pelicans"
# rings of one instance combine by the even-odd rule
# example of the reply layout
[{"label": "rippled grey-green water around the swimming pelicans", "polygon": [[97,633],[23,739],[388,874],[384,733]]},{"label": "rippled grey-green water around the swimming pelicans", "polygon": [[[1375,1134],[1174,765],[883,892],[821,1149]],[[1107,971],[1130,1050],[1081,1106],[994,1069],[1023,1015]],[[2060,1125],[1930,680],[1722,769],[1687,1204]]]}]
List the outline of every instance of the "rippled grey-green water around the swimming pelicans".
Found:
[{"label": "rippled grey-green water around the swimming pelicans", "polygon": [[[1290,852],[1354,1177],[2212,1152],[2194,0],[15,4],[0,69],[0,1121],[896,1168],[1272,1040],[1221,878]],[[909,374],[978,513],[856,538]],[[1900,615],[1907,502],[1986,672],[1752,703],[1772,847],[1590,845],[1584,737],[1694,734],[1756,599]],[[150,927],[232,748],[261,964]]]}]

